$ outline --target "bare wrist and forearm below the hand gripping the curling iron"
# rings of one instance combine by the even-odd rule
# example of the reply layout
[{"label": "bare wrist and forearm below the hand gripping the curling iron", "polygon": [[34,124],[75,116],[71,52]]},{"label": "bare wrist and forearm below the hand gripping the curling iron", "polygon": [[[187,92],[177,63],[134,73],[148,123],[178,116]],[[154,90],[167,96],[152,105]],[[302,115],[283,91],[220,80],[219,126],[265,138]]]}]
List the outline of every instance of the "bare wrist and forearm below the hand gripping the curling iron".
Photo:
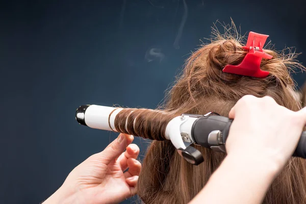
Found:
[{"label": "bare wrist and forearm below the hand gripping the curling iron", "polygon": [[[191,203],[262,203],[278,167],[255,154],[228,154]],[[222,192],[222,196],[216,195]]]}]

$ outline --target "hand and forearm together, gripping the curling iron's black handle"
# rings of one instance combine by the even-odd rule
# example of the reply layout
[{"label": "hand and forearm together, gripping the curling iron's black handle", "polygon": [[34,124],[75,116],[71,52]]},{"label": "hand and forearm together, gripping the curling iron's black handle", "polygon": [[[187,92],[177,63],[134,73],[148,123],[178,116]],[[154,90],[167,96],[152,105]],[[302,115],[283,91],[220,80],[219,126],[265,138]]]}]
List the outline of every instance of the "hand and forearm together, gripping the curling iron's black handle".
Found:
[{"label": "hand and forearm together, gripping the curling iron's black handle", "polygon": [[191,203],[262,203],[296,148],[306,109],[293,112],[271,97],[246,95],[229,117],[234,121],[225,143],[227,156]]}]

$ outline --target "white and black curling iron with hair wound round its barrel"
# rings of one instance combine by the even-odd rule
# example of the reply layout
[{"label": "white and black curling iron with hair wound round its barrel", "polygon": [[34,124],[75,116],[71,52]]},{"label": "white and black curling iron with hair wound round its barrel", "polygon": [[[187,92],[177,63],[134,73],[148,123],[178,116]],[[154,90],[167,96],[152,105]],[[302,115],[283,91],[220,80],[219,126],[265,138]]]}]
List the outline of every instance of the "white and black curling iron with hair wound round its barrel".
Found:
[{"label": "white and black curling iron with hair wound round its barrel", "polygon": [[[123,108],[85,105],[77,109],[75,119],[93,129],[118,132],[114,121]],[[225,142],[233,119],[217,113],[206,115],[182,114],[174,117],[166,126],[165,137],[171,140],[179,154],[189,163],[203,162],[201,152],[190,144],[200,145],[219,152],[226,152]],[[294,157],[306,159],[306,131],[302,132]]]}]

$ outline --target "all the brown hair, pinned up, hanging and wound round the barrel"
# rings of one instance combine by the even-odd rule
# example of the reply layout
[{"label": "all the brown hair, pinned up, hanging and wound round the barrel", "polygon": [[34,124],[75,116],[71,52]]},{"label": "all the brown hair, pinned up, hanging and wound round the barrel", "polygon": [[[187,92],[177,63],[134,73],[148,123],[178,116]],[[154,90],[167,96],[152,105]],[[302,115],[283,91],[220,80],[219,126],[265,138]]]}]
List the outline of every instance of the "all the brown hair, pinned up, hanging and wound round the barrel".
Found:
[{"label": "all the brown hair, pinned up, hanging and wound round the barrel", "polygon": [[[227,27],[224,35],[214,30],[214,40],[192,53],[169,92],[162,108],[164,112],[124,109],[116,116],[116,130],[154,140],[147,149],[137,184],[138,195],[146,204],[189,202],[206,185],[225,157],[223,153],[193,145],[202,152],[204,162],[194,166],[182,159],[164,137],[165,126],[173,117],[183,113],[208,112],[228,116],[238,99],[246,94],[257,97],[269,95],[279,105],[293,111],[301,108],[294,96],[295,85],[290,71],[303,66],[294,60],[295,55],[291,52],[285,55],[285,52],[264,49],[273,56],[261,63],[261,69],[270,72],[267,78],[222,71],[227,64],[239,64],[247,54],[242,48],[243,38],[238,35],[235,26],[232,28]],[[305,176],[305,160],[291,158],[272,183],[264,203],[306,203]]]}]

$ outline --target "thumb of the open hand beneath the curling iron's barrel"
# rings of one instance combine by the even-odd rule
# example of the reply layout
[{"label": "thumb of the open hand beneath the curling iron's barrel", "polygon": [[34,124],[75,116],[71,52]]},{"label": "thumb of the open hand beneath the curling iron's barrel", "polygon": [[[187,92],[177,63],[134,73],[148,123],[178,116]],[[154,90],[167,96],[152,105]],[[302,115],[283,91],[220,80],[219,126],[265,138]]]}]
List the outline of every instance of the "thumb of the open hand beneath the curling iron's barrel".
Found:
[{"label": "thumb of the open hand beneath the curling iron's barrel", "polygon": [[122,152],[124,152],[127,144],[126,137],[126,134],[120,134],[117,139],[115,139],[103,151],[97,154],[99,157],[103,158],[105,164],[108,165],[111,161],[117,159]]}]

